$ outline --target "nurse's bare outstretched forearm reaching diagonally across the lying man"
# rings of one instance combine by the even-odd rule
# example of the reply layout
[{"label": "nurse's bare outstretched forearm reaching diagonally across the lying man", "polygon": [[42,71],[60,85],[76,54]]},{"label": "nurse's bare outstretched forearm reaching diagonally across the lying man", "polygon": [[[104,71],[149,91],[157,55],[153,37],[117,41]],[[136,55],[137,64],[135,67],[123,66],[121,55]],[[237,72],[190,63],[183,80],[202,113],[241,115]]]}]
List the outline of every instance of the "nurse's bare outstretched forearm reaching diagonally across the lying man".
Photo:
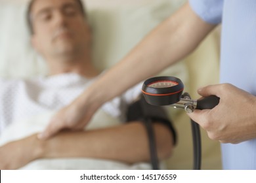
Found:
[{"label": "nurse's bare outstretched forearm reaching diagonally across the lying man", "polygon": [[97,101],[96,106],[102,105],[187,56],[214,27],[203,22],[187,3],[156,27],[121,62],[102,75],[79,101]]}]

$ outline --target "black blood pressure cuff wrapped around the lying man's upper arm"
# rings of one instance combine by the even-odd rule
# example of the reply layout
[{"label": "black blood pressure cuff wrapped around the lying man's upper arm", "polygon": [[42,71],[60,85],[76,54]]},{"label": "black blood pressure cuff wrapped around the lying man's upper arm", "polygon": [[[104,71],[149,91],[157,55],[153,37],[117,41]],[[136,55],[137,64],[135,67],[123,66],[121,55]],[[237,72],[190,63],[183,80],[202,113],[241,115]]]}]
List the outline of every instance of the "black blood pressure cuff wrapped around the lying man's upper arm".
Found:
[{"label": "black blood pressure cuff wrapped around the lying man's upper arm", "polygon": [[127,122],[136,120],[145,122],[146,119],[150,119],[153,123],[156,122],[165,125],[171,131],[173,142],[176,144],[177,135],[165,109],[160,106],[148,104],[142,95],[140,95],[139,100],[129,105],[126,116]]}]

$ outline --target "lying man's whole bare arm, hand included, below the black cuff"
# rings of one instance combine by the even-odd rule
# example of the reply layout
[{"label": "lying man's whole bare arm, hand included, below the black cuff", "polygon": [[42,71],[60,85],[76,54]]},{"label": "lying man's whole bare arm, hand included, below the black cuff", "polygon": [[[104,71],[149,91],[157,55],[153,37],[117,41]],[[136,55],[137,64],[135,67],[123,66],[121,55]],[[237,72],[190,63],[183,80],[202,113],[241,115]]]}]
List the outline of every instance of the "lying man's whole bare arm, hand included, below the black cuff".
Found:
[{"label": "lying man's whole bare arm, hand included, below the black cuff", "polygon": [[[167,158],[173,148],[170,130],[154,124],[158,158]],[[107,129],[62,132],[47,141],[36,135],[0,147],[0,169],[17,169],[39,158],[101,158],[135,163],[149,161],[146,129],[131,122]]]}]

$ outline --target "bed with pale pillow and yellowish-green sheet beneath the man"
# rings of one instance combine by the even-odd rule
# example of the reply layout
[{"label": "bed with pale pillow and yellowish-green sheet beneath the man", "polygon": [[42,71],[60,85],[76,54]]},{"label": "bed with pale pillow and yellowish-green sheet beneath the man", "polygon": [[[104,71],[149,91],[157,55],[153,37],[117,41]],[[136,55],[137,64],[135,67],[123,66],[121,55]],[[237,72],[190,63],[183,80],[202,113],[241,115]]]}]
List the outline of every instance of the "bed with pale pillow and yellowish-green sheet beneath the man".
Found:
[{"label": "bed with pale pillow and yellowish-green sheet beneath the man", "polygon": [[[43,59],[30,45],[25,12],[28,0],[0,1],[0,77],[29,78],[45,75]],[[84,0],[93,28],[93,60],[108,69],[150,30],[180,7],[184,0]],[[189,40],[188,40],[189,41]],[[14,69],[15,65],[15,69]],[[190,56],[159,75],[181,78],[185,91],[196,99],[196,89],[219,82],[219,30],[216,29]],[[167,169],[192,169],[190,122],[183,110],[168,108],[178,142]],[[221,169],[219,142],[202,130],[202,169]]]}]

